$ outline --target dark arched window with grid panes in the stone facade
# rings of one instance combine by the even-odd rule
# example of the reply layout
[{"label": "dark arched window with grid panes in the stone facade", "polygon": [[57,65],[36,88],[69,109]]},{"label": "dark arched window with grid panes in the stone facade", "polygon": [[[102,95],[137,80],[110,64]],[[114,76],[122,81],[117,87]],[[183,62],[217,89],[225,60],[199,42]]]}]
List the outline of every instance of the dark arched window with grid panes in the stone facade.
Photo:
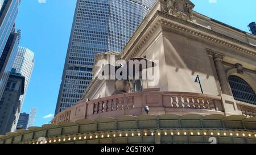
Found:
[{"label": "dark arched window with grid panes in the stone facade", "polygon": [[253,89],[242,78],[230,76],[229,85],[232,89],[234,99],[256,105],[256,95]]}]

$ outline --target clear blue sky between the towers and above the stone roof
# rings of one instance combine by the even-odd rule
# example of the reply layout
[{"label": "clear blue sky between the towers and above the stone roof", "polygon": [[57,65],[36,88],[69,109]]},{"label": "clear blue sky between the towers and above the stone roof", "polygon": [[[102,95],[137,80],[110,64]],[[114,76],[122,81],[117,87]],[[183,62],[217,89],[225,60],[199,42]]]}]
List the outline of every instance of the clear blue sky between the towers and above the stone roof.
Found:
[{"label": "clear blue sky between the towers and above the stone roof", "polygon": [[[46,2],[46,3],[39,3]],[[256,19],[256,1],[192,0],[195,11],[249,32]],[[76,0],[24,0],[16,28],[22,30],[20,45],[35,53],[35,67],[22,112],[38,109],[35,126],[52,119],[67,53]]]}]

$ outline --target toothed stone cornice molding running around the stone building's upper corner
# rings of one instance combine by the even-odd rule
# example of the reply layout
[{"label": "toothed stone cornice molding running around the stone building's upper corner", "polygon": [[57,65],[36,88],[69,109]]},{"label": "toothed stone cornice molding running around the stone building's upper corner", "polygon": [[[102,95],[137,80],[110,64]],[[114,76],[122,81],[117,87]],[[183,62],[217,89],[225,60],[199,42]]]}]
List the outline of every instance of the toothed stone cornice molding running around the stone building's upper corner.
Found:
[{"label": "toothed stone cornice molding running around the stone building's upper corner", "polygon": [[[155,20],[156,18],[160,19]],[[154,24],[152,25],[152,23]],[[175,16],[166,14],[166,12],[159,10],[156,11],[155,15],[147,23],[147,26],[144,27],[141,32],[139,32],[139,35],[134,39],[134,42],[132,45],[130,45],[129,49],[126,52],[126,49],[124,49],[124,51],[121,53],[122,57],[131,58],[137,55],[142,46],[150,39],[152,33],[159,26],[165,26],[177,31],[185,32],[194,37],[200,37],[203,40],[212,41],[213,43],[256,57],[256,47],[253,45],[243,43],[242,41],[233,39],[232,37],[223,35],[213,30],[209,30],[205,27],[201,27],[195,23],[176,18]]]}]

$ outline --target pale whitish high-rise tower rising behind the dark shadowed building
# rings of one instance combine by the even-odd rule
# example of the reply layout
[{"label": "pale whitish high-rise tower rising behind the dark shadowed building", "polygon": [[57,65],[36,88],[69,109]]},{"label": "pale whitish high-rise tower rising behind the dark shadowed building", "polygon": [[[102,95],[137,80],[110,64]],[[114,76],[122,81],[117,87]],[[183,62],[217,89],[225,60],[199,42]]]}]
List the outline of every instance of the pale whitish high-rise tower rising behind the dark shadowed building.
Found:
[{"label": "pale whitish high-rise tower rising behind the dark shadowed building", "polygon": [[[34,62],[34,53],[28,48],[19,47],[13,64],[13,68],[16,69],[17,73],[20,73],[23,77],[25,77],[24,95],[20,96],[20,108],[22,108],[23,106],[28,84],[30,83],[32,70],[34,68]],[[16,129],[16,124],[19,120],[19,113],[20,112],[16,114],[16,121],[14,122],[12,131]]]}]

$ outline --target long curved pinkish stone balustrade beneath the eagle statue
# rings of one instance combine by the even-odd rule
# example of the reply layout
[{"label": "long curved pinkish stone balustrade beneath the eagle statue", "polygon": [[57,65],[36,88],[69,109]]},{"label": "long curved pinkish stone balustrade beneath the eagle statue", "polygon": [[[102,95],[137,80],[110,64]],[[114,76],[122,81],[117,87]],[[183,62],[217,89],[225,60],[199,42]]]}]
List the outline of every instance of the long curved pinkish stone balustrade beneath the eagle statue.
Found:
[{"label": "long curved pinkish stone balustrade beneath the eagle statue", "polygon": [[81,100],[76,106],[56,115],[52,123],[107,116],[112,118],[121,115],[139,116],[146,113],[144,111],[145,106],[150,107],[150,114],[152,115],[224,114],[222,100],[218,96],[145,89],[140,93],[123,93],[88,102]]}]

